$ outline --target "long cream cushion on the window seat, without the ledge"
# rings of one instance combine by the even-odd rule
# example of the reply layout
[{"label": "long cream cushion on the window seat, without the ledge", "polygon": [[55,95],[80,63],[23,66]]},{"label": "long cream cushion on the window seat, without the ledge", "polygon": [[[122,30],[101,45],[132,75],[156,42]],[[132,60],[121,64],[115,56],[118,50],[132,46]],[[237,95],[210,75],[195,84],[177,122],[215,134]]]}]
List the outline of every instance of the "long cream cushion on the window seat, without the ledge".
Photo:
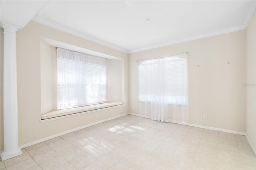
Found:
[{"label": "long cream cushion on the window seat, without the ledge", "polygon": [[60,116],[66,116],[66,115],[72,115],[72,114],[82,113],[82,112],[87,112],[87,111],[93,111],[93,110],[97,110],[97,109],[103,109],[103,108],[118,106],[118,105],[122,105],[122,104],[124,104],[124,103],[108,102],[108,103],[100,103],[100,104],[90,105],[90,106],[74,107],[74,108],[70,108],[70,109],[61,109],[61,110],[51,111],[51,112],[41,115],[41,120],[50,119],[50,118],[54,118],[54,117],[60,117]]}]

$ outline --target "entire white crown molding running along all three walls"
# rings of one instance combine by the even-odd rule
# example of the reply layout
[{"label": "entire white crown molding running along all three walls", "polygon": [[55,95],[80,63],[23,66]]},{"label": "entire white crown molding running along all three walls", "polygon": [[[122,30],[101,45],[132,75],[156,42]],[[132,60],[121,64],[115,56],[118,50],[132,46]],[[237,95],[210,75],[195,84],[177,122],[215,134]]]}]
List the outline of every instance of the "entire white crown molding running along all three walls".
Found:
[{"label": "entire white crown molding running along all three walls", "polygon": [[110,47],[112,49],[116,49],[118,51],[122,51],[124,53],[130,54],[130,53],[136,53],[136,52],[139,52],[139,51],[145,51],[145,50],[148,50],[148,49],[154,49],[154,48],[158,48],[158,47],[164,47],[164,46],[167,46],[167,45],[173,45],[173,44],[177,44],[177,43],[188,42],[188,41],[192,41],[192,40],[198,40],[198,39],[202,39],[202,38],[217,36],[217,35],[220,35],[220,34],[226,34],[226,33],[229,33],[229,32],[244,30],[244,29],[247,28],[248,24],[250,23],[250,19],[252,18],[252,15],[254,13],[255,8],[256,8],[255,4],[250,6],[250,9],[248,10],[248,13],[246,14],[246,17],[244,19],[244,23],[242,25],[234,26],[234,27],[230,27],[230,28],[224,28],[224,29],[221,29],[221,30],[208,32],[208,33],[204,33],[204,34],[198,34],[198,35],[190,36],[190,37],[186,37],[186,38],[180,38],[180,39],[172,40],[172,41],[165,42],[165,43],[159,43],[158,45],[151,45],[151,46],[148,46],[148,47],[134,49],[134,50],[127,50],[127,49],[124,49],[122,47],[118,47],[118,46],[116,46],[114,44],[111,44],[109,42],[104,42],[102,40],[93,38],[92,36],[86,35],[82,32],[78,32],[76,30],[73,30],[71,28],[62,26],[60,24],[56,24],[54,22],[51,22],[51,21],[46,20],[44,18],[40,18],[38,16],[34,16],[34,18],[32,18],[32,21],[37,22],[39,24],[43,24],[43,25],[51,27],[51,28],[55,28],[57,30],[66,32],[68,34],[72,34],[74,36],[78,36],[80,38],[84,38],[86,40],[104,45],[106,47]]}]

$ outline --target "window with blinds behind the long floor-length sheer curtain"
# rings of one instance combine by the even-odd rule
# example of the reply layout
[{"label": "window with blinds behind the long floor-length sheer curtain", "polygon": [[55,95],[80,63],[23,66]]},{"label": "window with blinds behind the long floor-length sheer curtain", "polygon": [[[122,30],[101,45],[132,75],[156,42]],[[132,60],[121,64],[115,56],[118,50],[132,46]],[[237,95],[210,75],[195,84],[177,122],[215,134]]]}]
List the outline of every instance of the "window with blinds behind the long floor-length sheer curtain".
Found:
[{"label": "window with blinds behind the long floor-length sheer curtain", "polygon": [[139,101],[187,103],[187,61],[185,55],[140,61]]}]

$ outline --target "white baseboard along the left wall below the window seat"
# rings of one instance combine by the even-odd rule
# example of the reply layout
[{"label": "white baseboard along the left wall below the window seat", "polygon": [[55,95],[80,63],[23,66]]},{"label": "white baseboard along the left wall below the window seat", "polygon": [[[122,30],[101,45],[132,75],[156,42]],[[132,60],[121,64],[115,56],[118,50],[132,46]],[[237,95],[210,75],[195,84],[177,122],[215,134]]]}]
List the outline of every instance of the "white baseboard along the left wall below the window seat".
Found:
[{"label": "white baseboard along the left wall below the window seat", "polygon": [[82,129],[82,128],[86,128],[86,127],[90,127],[90,126],[93,126],[93,125],[97,125],[97,124],[99,124],[99,123],[103,123],[103,122],[106,122],[106,121],[110,121],[110,120],[112,120],[112,119],[116,119],[116,118],[118,118],[118,117],[122,117],[122,116],[125,116],[125,115],[128,115],[128,113],[124,113],[124,114],[122,114],[122,115],[117,115],[117,116],[114,116],[114,117],[110,117],[110,118],[108,118],[108,119],[104,119],[104,120],[101,120],[101,121],[98,121],[98,122],[90,123],[90,124],[88,124],[88,125],[84,125],[84,126],[81,126],[81,127],[72,128],[72,129],[70,129],[70,130],[66,130],[66,131],[64,131],[64,132],[60,132],[60,133],[58,133],[58,134],[54,134],[54,135],[48,136],[48,137],[46,137],[46,138],[42,138],[42,139],[39,139],[39,140],[35,140],[35,141],[33,141],[33,142],[29,142],[29,143],[26,143],[26,144],[22,144],[22,145],[20,145],[19,147],[20,147],[21,149],[22,149],[22,148],[26,148],[26,147],[28,147],[28,146],[32,146],[32,145],[34,145],[34,144],[38,144],[38,143],[40,143],[40,142],[44,142],[44,141],[49,140],[49,139],[52,139],[52,138],[56,138],[56,137],[61,136],[61,135],[64,135],[64,134],[67,134],[67,133],[70,133],[70,132],[74,132],[74,131],[80,130],[80,129]]}]

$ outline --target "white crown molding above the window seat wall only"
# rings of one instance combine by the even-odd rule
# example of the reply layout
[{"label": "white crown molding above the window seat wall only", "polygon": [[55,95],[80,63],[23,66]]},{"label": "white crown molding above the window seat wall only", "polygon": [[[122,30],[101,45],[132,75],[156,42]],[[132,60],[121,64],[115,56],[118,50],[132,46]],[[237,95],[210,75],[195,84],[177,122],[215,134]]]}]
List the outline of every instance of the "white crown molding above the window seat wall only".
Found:
[{"label": "white crown molding above the window seat wall only", "polygon": [[60,30],[60,31],[66,32],[68,34],[72,34],[72,35],[80,37],[80,38],[84,38],[84,39],[89,40],[91,42],[95,42],[95,43],[98,43],[100,45],[104,45],[106,47],[110,47],[112,49],[116,49],[116,50],[124,52],[124,53],[128,53],[129,52],[128,50],[126,50],[126,49],[124,49],[122,47],[118,47],[116,45],[113,45],[113,44],[108,43],[108,42],[104,42],[102,40],[98,40],[96,38],[93,38],[92,36],[88,36],[88,35],[86,35],[86,34],[84,34],[82,32],[78,32],[76,30],[73,30],[71,28],[62,26],[60,24],[56,24],[54,22],[51,22],[51,21],[46,20],[44,18],[40,18],[38,16],[34,16],[32,18],[32,21],[37,22],[37,23],[42,24],[42,25],[45,25],[45,26],[48,26],[48,27],[51,27],[51,28],[54,28],[56,30]]}]

